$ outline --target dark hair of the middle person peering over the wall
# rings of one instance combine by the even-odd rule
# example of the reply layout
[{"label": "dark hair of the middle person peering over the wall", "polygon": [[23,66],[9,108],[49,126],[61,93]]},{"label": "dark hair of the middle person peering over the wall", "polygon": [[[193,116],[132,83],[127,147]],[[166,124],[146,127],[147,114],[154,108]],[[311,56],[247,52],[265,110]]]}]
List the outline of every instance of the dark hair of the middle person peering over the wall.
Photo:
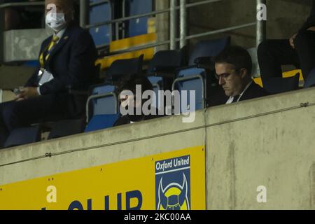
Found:
[{"label": "dark hair of the middle person peering over the wall", "polygon": [[123,92],[123,90],[130,90],[134,94],[136,94],[136,87],[137,85],[141,85],[141,93],[144,93],[146,90],[153,90],[153,86],[148,80],[146,76],[139,75],[139,74],[132,74],[130,76],[126,76],[120,81],[118,85],[118,92]]}]

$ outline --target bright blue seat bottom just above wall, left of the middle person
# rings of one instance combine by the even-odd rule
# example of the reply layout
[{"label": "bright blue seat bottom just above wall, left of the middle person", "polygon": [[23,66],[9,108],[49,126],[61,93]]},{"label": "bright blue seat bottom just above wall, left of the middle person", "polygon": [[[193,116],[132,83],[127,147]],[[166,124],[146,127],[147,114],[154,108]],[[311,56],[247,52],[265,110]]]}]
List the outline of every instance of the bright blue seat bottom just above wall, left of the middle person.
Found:
[{"label": "bright blue seat bottom just above wall, left of the middle person", "polygon": [[113,127],[118,118],[119,114],[103,114],[93,116],[85,128],[85,132],[93,132]]}]

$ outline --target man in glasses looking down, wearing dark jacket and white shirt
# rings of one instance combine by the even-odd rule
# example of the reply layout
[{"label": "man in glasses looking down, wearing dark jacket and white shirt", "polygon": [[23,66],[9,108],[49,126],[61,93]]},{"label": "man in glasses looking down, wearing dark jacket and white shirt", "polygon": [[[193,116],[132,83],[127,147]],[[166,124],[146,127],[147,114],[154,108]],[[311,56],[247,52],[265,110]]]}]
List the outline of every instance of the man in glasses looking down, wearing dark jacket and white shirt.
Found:
[{"label": "man in glasses looking down, wearing dark jacket and white shirt", "polygon": [[239,46],[225,48],[213,61],[216,78],[223,91],[218,91],[209,98],[209,106],[232,104],[267,95],[267,92],[251,78],[251,56],[244,48]]}]

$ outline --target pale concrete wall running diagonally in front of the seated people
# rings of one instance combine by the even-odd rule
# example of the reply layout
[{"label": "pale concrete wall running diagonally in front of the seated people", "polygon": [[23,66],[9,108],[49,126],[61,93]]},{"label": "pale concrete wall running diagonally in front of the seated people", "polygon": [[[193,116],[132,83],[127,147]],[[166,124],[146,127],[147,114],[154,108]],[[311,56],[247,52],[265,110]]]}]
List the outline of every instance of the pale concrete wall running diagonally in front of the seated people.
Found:
[{"label": "pale concrete wall running diagonally in front of the seated people", "polygon": [[[195,123],[172,116],[2,150],[0,185],[204,145],[207,209],[315,209],[314,93],[197,111]],[[256,201],[258,186],[267,203]]]}]

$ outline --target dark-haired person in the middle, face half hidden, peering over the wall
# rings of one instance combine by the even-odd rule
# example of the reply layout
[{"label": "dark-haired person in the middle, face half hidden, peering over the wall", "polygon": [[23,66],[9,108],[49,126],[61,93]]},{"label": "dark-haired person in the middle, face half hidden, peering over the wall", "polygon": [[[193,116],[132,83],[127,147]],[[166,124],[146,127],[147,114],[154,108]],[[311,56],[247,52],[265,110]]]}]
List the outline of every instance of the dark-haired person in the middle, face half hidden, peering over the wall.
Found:
[{"label": "dark-haired person in the middle, face half hidden, peering over the wall", "polygon": [[[137,92],[137,87],[141,87],[141,92]],[[151,120],[154,118],[159,118],[158,109],[151,108],[150,111],[144,111],[144,103],[148,102],[148,99],[143,99],[142,94],[147,90],[153,91],[151,82],[146,78],[146,76],[141,76],[134,74],[132,76],[127,76],[123,78],[118,87],[119,99],[120,99],[120,118],[116,121],[114,126],[126,125],[130,123],[135,123],[143,120]],[[139,95],[137,95],[137,93]],[[141,99],[138,99],[140,97]],[[130,106],[132,109],[130,109]],[[123,115],[122,110],[128,111],[127,114]],[[130,113],[130,111],[132,113]]]}]

